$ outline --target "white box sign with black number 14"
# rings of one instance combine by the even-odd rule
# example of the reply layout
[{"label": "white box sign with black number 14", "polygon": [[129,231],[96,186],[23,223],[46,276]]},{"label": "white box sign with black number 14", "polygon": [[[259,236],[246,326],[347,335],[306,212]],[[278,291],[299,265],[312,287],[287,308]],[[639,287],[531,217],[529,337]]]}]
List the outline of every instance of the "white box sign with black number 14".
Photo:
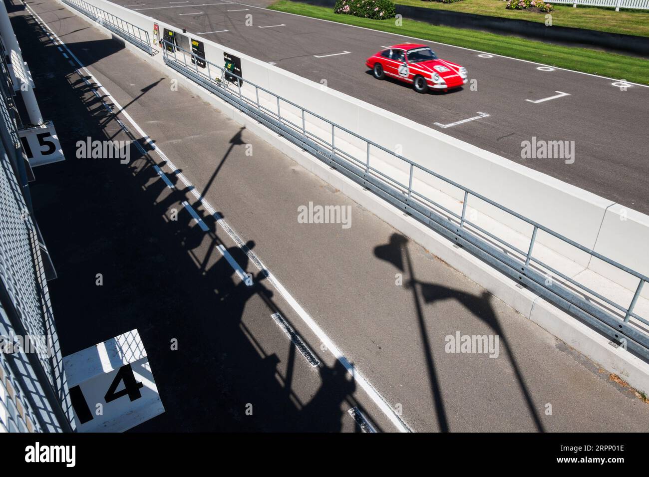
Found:
[{"label": "white box sign with black number 14", "polygon": [[77,432],[123,432],[164,412],[138,330],[63,362]]}]

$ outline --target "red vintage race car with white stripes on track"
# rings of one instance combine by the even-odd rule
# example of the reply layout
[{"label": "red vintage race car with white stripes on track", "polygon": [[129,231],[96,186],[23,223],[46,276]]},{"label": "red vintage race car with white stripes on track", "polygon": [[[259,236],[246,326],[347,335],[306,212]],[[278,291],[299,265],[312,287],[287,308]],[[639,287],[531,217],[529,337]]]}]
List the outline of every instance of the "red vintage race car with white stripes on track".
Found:
[{"label": "red vintage race car with white stripes on track", "polygon": [[428,88],[448,91],[467,82],[465,67],[437,58],[426,45],[394,45],[370,56],[365,64],[373,70],[374,78],[396,78],[412,84],[417,93]]}]

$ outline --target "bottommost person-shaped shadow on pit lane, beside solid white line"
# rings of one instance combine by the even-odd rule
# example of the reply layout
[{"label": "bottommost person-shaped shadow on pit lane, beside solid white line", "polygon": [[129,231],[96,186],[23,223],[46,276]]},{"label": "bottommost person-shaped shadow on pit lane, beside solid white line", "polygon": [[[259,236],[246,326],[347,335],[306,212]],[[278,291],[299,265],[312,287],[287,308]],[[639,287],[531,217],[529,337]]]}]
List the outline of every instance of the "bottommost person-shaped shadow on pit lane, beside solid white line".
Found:
[{"label": "bottommost person-shaped shadow on pit lane, beside solid white line", "polygon": [[321,384],[300,411],[300,426],[304,431],[340,432],[345,415],[342,404],[356,390],[356,382],[338,360],[333,367],[321,365],[318,371]]}]

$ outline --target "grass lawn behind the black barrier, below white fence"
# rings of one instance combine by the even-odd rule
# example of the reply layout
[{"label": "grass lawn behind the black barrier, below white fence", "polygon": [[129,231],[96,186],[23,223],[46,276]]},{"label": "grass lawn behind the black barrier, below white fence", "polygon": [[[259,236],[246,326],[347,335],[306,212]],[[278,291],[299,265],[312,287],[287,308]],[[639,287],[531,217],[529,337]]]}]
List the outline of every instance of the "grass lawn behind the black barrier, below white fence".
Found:
[{"label": "grass lawn behind the black barrier, below white fence", "polygon": [[[552,25],[557,27],[574,27],[627,35],[649,36],[649,10],[620,10],[597,6],[558,5],[552,0],[545,0],[554,6],[550,12]],[[507,10],[503,0],[461,0],[455,3],[441,3],[425,0],[397,0],[395,3],[409,6],[422,6],[436,10],[474,13],[503,18],[545,22],[545,14],[528,10]]]}]

